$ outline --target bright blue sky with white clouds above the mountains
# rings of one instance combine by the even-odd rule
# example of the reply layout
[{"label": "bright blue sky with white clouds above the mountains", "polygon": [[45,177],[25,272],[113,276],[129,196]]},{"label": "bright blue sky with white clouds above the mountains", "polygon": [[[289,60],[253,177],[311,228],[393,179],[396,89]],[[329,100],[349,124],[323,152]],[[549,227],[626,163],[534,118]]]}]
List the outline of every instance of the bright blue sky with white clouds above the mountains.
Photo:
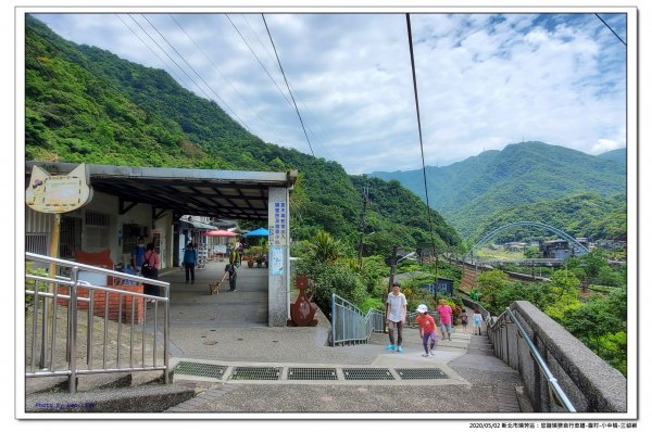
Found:
[{"label": "bright blue sky with white clouds above the mountains", "polygon": [[[263,140],[311,153],[260,13],[112,12],[35,15],[68,40],[164,68]],[[600,16],[627,41],[625,14]],[[404,13],[265,20],[316,156],[350,174],[421,168]],[[411,21],[427,165],[524,139],[589,154],[626,147],[627,48],[594,14]]]}]

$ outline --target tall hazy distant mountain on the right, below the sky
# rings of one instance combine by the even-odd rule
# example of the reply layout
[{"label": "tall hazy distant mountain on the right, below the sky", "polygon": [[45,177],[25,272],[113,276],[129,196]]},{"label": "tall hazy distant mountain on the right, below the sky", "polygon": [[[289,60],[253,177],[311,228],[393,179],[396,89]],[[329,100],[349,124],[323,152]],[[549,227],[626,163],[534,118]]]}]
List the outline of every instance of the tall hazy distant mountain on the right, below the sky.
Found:
[{"label": "tall hazy distant mountain on the right, below the sky", "polygon": [[[427,167],[430,205],[465,237],[487,216],[516,206],[592,192],[624,193],[626,166],[542,142],[510,144],[444,167]],[[424,198],[423,171],[373,173]]]}]

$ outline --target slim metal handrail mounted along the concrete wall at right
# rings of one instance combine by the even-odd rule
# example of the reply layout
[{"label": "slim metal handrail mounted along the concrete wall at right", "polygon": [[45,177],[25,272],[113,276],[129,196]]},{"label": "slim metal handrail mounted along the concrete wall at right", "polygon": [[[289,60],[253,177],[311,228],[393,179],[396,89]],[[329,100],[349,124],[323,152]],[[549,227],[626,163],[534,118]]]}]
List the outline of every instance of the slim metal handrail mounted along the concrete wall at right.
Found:
[{"label": "slim metal handrail mounted along the concrete wall at right", "polygon": [[[507,320],[507,318],[509,318],[509,320]],[[566,411],[577,412],[577,410],[573,406],[573,403],[570,402],[570,399],[568,398],[566,393],[560,386],[560,383],[557,382],[556,378],[554,378],[554,376],[550,371],[550,368],[548,367],[548,364],[546,363],[546,360],[539,353],[539,350],[537,350],[537,346],[531,341],[531,339],[528,336],[523,325],[521,323],[521,321],[518,321],[518,319],[516,318],[514,313],[512,313],[512,310],[510,310],[510,308],[506,307],[505,312],[503,314],[501,314],[498,318],[496,318],[496,321],[492,325],[490,323],[489,317],[485,317],[485,319],[486,319],[485,322],[487,323],[487,328],[490,328],[490,330],[492,332],[497,332],[497,333],[502,328],[504,328],[504,326],[507,323],[516,325],[516,328],[518,329],[518,334],[523,338],[523,340],[527,344],[530,355],[532,356],[532,358],[535,359],[535,361],[537,363],[537,365],[543,372],[546,382],[548,384],[548,391],[551,396],[551,399],[554,401],[559,406],[564,408]],[[509,339],[506,339],[506,341],[509,341]],[[494,343],[494,346],[496,345],[497,344]],[[509,356],[509,350],[510,350],[509,344],[504,347],[502,346],[502,344],[500,344],[500,347],[498,347],[498,350],[500,351],[498,353],[499,358],[503,357],[505,354],[506,354],[506,356]],[[504,353],[503,350],[506,350],[506,353]]]}]

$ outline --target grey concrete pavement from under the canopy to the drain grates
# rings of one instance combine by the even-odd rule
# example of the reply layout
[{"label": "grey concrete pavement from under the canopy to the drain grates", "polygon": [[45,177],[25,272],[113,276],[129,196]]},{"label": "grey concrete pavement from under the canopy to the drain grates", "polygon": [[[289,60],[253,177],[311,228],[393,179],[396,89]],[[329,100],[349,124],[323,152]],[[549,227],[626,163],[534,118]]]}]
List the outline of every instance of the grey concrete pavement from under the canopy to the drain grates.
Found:
[{"label": "grey concrete pavement from under the canopy to the drain grates", "polygon": [[[192,382],[198,395],[170,408],[177,414],[318,414],[411,412],[446,416],[454,412],[518,412],[518,373],[485,348],[486,336],[455,329],[452,341],[440,341],[435,356],[422,357],[418,330],[406,328],[402,354],[387,353],[387,334],[368,344],[328,346],[329,323],[318,313],[317,327],[266,326],[265,268],[238,269],[238,291],[210,295],[226,263],[211,262],[186,284],[180,269],[161,275],[171,282],[172,365],[180,361],[225,368],[222,378],[175,376]],[[224,283],[223,285],[227,285]],[[151,306],[150,306],[151,307]],[[471,328],[469,328],[471,331]],[[489,354],[489,355],[488,355]],[[234,381],[238,367],[279,367],[280,380]],[[333,368],[336,381],[287,378],[289,368]],[[392,381],[347,380],[346,368],[387,368]],[[397,369],[439,369],[446,379],[406,380]]]}]

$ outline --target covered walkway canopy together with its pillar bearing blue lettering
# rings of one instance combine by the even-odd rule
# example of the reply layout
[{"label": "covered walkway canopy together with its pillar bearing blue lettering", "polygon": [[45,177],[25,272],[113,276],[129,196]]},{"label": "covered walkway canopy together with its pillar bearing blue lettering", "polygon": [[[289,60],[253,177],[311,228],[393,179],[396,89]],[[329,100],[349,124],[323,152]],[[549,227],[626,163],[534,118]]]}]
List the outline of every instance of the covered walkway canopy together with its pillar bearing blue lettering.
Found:
[{"label": "covered walkway canopy together with its pillar bearing blue lettering", "polygon": [[[52,176],[65,176],[77,168],[78,164],[26,162],[26,188],[29,188],[34,166],[40,167]],[[111,234],[106,231],[99,240],[102,242],[101,246],[117,251],[116,255],[120,256],[125,252],[128,253],[123,250],[124,243],[120,244],[122,239],[118,234],[120,224],[124,226],[125,220],[130,217],[129,211],[138,204],[147,204],[151,207],[152,229],[156,224],[155,220],[165,217],[158,229],[166,230],[164,232],[166,236],[159,236],[159,239],[164,239],[163,245],[166,251],[175,250],[174,241],[178,237],[174,236],[173,225],[180,220],[183,215],[265,220],[269,227],[275,228],[274,236],[271,234],[269,239],[267,320],[272,327],[286,326],[290,302],[289,190],[294,185],[297,171],[263,173],[86,165],[86,183],[91,186],[93,191],[117,199],[111,200],[111,205],[116,203],[117,208],[109,208],[106,201],[103,204],[96,201],[95,205],[105,205],[106,208],[102,209],[112,214],[117,213],[120,216],[113,218],[118,220],[113,226],[115,233]],[[103,199],[105,200],[105,196]],[[93,205],[93,202],[89,205]],[[37,214],[34,209],[29,211],[30,214]],[[142,219],[147,220],[145,217]],[[148,226],[149,223],[147,220]],[[186,223],[190,224],[190,221]],[[202,229],[208,227],[214,228],[206,225]],[[39,231],[39,234],[42,232]],[[93,244],[93,247],[99,245]],[[172,263],[171,254],[166,255]]]}]

